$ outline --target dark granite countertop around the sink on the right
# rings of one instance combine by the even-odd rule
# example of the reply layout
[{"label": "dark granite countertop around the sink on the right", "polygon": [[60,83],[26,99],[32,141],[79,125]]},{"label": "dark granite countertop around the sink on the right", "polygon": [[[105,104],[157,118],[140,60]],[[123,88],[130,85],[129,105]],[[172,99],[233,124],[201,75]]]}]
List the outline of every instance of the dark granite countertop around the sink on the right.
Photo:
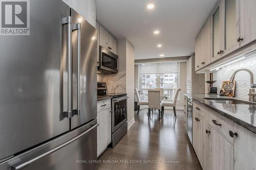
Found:
[{"label": "dark granite countertop around the sink on the right", "polygon": [[254,104],[223,104],[214,101],[206,100],[204,98],[217,98],[212,100],[233,99],[248,102],[240,98],[232,98],[227,96],[219,96],[217,94],[198,94],[198,93],[184,93],[189,98],[198,101],[204,106],[220,113],[229,118],[234,123],[256,133],[256,103]]}]

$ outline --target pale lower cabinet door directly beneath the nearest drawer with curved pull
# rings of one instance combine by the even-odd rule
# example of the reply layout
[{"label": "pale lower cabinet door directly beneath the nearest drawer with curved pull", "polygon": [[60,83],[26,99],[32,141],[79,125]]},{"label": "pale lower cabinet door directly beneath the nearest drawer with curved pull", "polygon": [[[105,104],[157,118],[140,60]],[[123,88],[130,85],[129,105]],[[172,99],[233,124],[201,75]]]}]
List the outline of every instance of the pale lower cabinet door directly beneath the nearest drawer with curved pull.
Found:
[{"label": "pale lower cabinet door directly beneath the nearest drawer with curved pull", "polygon": [[[208,169],[234,169],[234,147],[209,125]],[[246,169],[246,168],[240,168]],[[247,168],[252,169],[252,168]]]}]

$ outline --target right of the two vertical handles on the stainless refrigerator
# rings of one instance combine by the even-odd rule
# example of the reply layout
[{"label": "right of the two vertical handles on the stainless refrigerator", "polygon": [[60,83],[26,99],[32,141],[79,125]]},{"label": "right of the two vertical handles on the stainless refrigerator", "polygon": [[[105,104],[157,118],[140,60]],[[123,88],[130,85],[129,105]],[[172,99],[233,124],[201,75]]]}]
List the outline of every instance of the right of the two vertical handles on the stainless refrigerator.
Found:
[{"label": "right of the two vertical handles on the stainless refrigerator", "polygon": [[72,117],[80,115],[80,66],[81,66],[81,23],[72,26],[72,31],[77,31],[77,109],[72,110]]}]

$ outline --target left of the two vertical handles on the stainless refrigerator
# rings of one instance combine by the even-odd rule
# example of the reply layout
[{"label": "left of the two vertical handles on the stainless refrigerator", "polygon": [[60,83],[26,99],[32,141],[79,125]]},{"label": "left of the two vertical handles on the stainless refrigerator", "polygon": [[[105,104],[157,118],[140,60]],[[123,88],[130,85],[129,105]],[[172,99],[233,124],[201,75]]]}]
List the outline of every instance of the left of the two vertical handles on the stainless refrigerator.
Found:
[{"label": "left of the two vertical handles on the stainless refrigerator", "polygon": [[72,25],[71,25],[71,16],[61,18],[62,25],[68,25],[68,111],[63,111],[64,117],[72,117]]}]

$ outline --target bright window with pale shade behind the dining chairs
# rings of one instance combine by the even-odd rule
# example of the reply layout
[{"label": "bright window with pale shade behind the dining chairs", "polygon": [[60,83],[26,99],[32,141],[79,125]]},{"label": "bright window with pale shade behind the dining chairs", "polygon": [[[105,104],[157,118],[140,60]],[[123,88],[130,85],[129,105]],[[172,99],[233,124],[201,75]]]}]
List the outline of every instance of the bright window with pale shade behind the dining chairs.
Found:
[{"label": "bright window with pale shade behind the dining chairs", "polygon": [[179,62],[140,64],[139,90],[146,100],[148,88],[164,88],[164,95],[173,99],[174,92],[180,86],[179,77]]}]

